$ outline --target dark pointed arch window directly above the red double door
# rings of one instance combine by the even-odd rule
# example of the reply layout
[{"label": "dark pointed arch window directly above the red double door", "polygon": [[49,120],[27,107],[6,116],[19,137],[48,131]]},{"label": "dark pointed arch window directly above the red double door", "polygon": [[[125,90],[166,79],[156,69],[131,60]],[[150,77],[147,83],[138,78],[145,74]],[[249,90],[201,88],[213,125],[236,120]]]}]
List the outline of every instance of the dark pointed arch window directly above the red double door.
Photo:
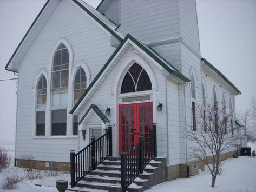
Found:
[{"label": "dark pointed arch window directly above the red double door", "polygon": [[139,64],[134,63],[123,78],[121,94],[146,90],[152,90],[150,78]]}]

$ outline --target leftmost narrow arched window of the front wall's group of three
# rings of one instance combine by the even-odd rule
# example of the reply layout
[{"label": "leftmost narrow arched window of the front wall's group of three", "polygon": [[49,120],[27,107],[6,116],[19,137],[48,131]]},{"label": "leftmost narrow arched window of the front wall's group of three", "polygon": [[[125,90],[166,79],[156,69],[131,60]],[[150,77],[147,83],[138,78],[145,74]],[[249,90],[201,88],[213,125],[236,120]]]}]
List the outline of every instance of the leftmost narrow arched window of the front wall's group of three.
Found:
[{"label": "leftmost narrow arched window of the front wall's group of three", "polygon": [[45,105],[47,81],[43,75],[39,78],[36,89],[36,136],[45,135]]}]

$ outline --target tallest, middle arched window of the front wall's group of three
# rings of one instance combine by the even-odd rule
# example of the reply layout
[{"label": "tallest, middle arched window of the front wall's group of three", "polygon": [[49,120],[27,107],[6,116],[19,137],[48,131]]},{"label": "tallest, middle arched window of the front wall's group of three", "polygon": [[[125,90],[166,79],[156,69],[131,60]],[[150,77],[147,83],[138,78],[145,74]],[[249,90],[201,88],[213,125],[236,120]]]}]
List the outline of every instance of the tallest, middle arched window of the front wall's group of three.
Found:
[{"label": "tallest, middle arched window of the front wall's group of three", "polygon": [[52,60],[51,72],[51,135],[66,135],[68,104],[69,54],[60,44]]}]

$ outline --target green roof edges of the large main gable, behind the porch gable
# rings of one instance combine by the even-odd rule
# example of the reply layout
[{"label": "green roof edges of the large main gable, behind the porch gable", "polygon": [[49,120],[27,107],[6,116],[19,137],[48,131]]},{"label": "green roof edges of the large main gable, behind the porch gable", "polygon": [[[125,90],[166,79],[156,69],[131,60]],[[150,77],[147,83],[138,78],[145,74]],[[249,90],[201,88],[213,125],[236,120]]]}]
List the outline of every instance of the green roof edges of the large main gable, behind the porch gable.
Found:
[{"label": "green roof edges of the large main gable, behind the porch gable", "polygon": [[[5,70],[11,71],[8,68],[8,65],[10,64],[12,58],[14,58],[14,56],[16,55],[18,49],[21,47],[22,43],[24,42],[25,38],[28,36],[29,32],[31,31],[32,27],[34,27],[35,23],[37,22],[38,18],[41,16],[42,12],[44,11],[44,9],[46,8],[46,6],[48,5],[48,3],[51,0],[48,0],[43,8],[41,9],[41,11],[39,12],[39,14],[36,16],[34,22],[30,25],[30,28],[28,29],[28,31],[26,32],[26,34],[24,35],[24,37],[22,38],[21,42],[18,44],[18,47],[15,49],[14,54],[12,54],[11,58],[9,59],[8,63],[5,65]],[[115,38],[117,38],[120,42],[123,40],[123,38],[114,30],[111,29],[106,23],[104,23],[102,21],[101,18],[97,17],[95,14],[93,14],[93,12],[91,12],[89,9],[86,8],[86,6],[84,6],[82,3],[80,3],[78,0],[71,0],[74,3],[76,3],[78,6],[80,6],[80,8],[84,11],[87,12],[88,15],[90,15],[92,18],[95,19],[96,22],[98,22],[99,24],[102,25],[103,28],[105,28],[108,32],[110,32],[111,35],[113,35]],[[89,6],[89,5],[88,5]],[[100,14],[100,13],[99,13]],[[13,71],[16,72],[16,71]]]}]

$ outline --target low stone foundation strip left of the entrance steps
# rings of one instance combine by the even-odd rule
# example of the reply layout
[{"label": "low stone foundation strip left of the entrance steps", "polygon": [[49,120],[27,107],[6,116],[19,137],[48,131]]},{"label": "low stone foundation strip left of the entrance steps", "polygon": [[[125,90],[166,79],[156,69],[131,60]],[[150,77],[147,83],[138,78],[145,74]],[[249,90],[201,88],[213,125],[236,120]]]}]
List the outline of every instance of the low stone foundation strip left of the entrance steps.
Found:
[{"label": "low stone foundation strip left of the entrance steps", "polygon": [[31,167],[32,169],[70,171],[69,162],[49,162],[49,161],[22,160],[22,159],[17,159],[16,162],[17,162],[17,167],[26,168],[28,167],[28,163],[29,163],[29,167]]}]

